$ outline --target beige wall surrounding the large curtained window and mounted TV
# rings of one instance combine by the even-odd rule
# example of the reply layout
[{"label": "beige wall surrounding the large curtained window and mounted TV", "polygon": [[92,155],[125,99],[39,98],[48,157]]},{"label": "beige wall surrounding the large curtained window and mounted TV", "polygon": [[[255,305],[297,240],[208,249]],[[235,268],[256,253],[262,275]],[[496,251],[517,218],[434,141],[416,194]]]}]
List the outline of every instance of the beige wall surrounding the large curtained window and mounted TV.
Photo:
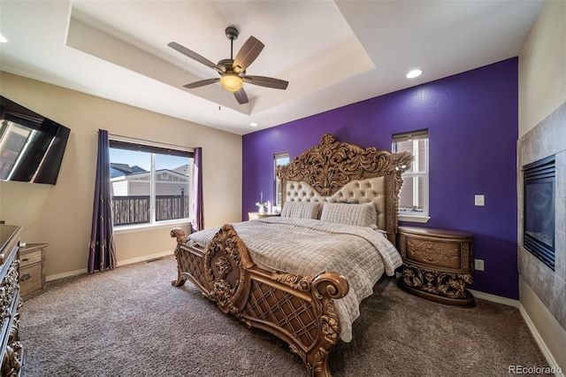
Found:
[{"label": "beige wall surrounding the large curtained window and mounted TV", "polygon": [[[99,128],[114,135],[203,147],[205,227],[241,220],[240,135],[11,73],[0,72],[0,89],[3,96],[71,129],[57,185],[0,182],[0,219],[22,226],[23,242],[50,244],[48,278],[86,271]],[[172,252],[170,228],[119,232],[119,264]]]}]

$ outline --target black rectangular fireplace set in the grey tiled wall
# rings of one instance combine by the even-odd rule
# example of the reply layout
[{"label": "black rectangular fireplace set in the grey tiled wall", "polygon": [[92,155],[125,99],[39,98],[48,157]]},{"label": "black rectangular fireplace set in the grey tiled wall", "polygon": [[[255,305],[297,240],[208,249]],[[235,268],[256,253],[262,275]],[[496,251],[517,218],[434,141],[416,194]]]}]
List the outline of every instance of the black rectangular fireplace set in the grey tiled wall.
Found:
[{"label": "black rectangular fireplace set in the grey tiled wall", "polygon": [[523,166],[524,248],[555,270],[555,156]]}]

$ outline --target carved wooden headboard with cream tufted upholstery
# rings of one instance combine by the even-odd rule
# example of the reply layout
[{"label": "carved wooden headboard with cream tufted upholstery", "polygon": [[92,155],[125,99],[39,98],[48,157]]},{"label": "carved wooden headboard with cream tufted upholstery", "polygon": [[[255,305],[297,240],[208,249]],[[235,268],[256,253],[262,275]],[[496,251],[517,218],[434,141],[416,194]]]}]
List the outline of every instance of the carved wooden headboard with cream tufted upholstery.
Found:
[{"label": "carved wooden headboard with cream tufted upholstery", "polygon": [[394,242],[399,221],[401,174],[409,167],[409,152],[390,153],[337,142],[325,134],[320,143],[277,166],[281,205],[290,201],[376,204],[377,226]]}]

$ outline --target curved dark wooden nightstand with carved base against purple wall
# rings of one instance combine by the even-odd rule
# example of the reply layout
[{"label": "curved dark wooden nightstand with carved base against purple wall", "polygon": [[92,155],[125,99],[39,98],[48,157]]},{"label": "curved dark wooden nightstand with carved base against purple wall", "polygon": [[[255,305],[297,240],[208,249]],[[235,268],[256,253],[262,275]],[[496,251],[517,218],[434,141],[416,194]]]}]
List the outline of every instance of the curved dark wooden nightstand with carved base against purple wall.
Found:
[{"label": "curved dark wooden nightstand with carved base against purple wall", "polygon": [[399,227],[403,258],[399,286],[440,304],[473,306],[473,235],[428,227]]}]

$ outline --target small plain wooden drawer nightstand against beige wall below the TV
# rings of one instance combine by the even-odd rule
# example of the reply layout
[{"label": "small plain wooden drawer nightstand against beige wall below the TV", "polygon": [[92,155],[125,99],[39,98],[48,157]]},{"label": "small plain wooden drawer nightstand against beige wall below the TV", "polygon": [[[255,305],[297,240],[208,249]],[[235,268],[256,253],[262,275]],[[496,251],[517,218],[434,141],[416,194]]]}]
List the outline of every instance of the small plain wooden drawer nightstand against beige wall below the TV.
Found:
[{"label": "small plain wooden drawer nightstand against beige wall below the TV", "polygon": [[24,300],[45,291],[45,256],[48,243],[27,243],[19,248],[19,287]]}]

